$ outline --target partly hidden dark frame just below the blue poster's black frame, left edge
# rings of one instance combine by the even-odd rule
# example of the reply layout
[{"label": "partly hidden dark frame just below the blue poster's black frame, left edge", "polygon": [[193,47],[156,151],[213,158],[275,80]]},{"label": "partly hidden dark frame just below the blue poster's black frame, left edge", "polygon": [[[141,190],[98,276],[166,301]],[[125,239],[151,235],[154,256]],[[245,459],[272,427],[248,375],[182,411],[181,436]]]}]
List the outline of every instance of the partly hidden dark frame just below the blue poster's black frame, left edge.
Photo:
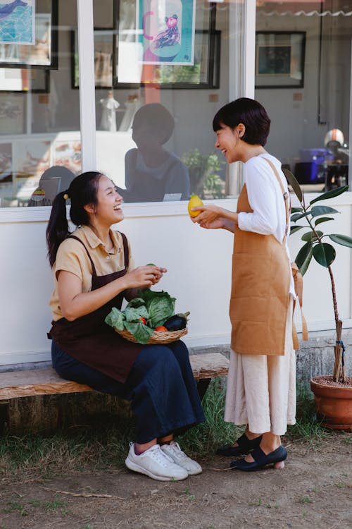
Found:
[{"label": "partly hidden dark frame just below the blue poster's black frame, left edge", "polygon": [[0,92],[49,93],[49,70],[0,68]]}]

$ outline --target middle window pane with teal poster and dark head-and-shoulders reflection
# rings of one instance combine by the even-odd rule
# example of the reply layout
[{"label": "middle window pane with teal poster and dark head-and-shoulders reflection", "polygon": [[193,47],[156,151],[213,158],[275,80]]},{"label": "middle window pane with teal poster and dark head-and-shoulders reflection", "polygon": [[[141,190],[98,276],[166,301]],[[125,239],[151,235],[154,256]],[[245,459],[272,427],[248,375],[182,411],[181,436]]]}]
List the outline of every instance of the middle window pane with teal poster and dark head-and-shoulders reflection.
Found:
[{"label": "middle window pane with teal poster and dark head-and-shoulders reflection", "polygon": [[241,95],[229,61],[243,37],[230,20],[242,9],[241,0],[94,0],[96,165],[125,202],[230,195],[212,120]]}]

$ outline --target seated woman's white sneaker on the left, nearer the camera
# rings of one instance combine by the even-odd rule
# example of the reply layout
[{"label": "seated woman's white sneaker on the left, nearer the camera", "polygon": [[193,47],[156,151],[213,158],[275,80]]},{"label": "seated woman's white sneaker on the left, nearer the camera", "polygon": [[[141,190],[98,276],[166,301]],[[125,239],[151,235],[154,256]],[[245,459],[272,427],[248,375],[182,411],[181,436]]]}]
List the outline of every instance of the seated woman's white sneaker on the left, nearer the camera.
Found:
[{"label": "seated woman's white sneaker on the left, nearer the camera", "polygon": [[188,477],[187,470],[176,465],[170,457],[161,451],[158,444],[153,444],[151,448],[137,456],[134,451],[134,443],[130,443],[130,451],[125,465],[130,470],[148,475],[153,480],[179,481]]}]

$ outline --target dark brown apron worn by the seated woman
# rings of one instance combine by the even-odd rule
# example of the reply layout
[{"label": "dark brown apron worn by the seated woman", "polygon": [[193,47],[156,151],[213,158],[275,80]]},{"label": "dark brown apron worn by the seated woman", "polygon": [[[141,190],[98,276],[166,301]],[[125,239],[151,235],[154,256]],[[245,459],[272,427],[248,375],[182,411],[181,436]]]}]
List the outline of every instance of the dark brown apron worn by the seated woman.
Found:
[{"label": "dark brown apron worn by the seated woman", "polygon": [[[125,234],[121,233],[121,235],[125,255],[125,269],[105,276],[96,275],[94,262],[83,241],[78,237],[70,236],[70,238],[80,241],[87,252],[92,265],[92,290],[96,290],[96,288],[100,288],[126,274],[129,260],[128,244]],[[112,327],[104,322],[111,308],[121,308],[123,298],[124,294],[120,292],[118,296],[115,296],[101,308],[79,317],[73,322],[69,322],[65,318],[52,322],[52,327],[48,334],[49,338],[54,338],[65,353],[118,382],[126,381],[134,360],[136,360],[143,347],[139,343],[132,343],[123,339]]]}]

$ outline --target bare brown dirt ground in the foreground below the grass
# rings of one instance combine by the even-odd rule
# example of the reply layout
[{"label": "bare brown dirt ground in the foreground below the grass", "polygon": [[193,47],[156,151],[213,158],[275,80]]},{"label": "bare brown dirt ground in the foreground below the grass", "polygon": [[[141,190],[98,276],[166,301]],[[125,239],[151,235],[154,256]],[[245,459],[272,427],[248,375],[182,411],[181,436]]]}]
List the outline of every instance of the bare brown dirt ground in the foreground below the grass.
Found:
[{"label": "bare brown dirt ground in the foreground below the grass", "polygon": [[[127,469],[54,478],[2,475],[0,528],[352,528],[352,444],[288,445],[284,470],[241,473],[227,458],[203,473],[158,482]],[[1,474],[0,474],[1,476]]]}]

